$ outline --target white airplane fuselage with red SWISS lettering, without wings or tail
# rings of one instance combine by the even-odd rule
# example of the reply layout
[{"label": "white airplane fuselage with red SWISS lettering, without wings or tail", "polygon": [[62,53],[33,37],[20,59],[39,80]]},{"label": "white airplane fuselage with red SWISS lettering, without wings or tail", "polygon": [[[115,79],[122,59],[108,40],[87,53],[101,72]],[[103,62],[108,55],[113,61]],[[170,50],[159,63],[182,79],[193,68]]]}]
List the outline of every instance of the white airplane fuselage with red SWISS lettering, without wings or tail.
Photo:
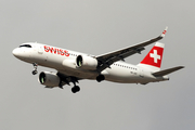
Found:
[{"label": "white airplane fuselage with red SWISS lettering, without wings or tail", "polygon": [[[13,54],[27,63],[37,63],[38,65],[54,68],[67,76],[74,76],[81,79],[95,79],[100,74],[96,70],[82,69],[77,67],[76,57],[78,55],[89,55],[66,49],[55,48],[41,43],[25,43],[30,47],[16,48]],[[91,55],[90,55],[91,56]],[[138,65],[127,64],[125,62],[115,62],[103,72],[105,80],[121,83],[147,83],[168,80],[167,76],[154,77],[150,69]]]}]

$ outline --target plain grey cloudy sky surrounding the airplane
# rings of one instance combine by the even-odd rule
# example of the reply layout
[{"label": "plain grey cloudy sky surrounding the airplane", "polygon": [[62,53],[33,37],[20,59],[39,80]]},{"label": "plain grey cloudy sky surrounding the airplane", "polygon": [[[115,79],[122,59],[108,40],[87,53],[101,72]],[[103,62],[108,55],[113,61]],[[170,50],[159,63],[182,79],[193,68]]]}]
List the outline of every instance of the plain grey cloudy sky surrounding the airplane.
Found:
[{"label": "plain grey cloudy sky surrounding the airplane", "polygon": [[[194,130],[193,0],[0,0],[1,130]],[[170,81],[80,81],[81,91],[44,89],[12,50],[38,41],[99,55],[154,38],[169,26],[162,69]],[[138,64],[140,55],[128,57]],[[39,67],[39,72],[51,70]],[[55,70],[54,70],[55,72]]]}]

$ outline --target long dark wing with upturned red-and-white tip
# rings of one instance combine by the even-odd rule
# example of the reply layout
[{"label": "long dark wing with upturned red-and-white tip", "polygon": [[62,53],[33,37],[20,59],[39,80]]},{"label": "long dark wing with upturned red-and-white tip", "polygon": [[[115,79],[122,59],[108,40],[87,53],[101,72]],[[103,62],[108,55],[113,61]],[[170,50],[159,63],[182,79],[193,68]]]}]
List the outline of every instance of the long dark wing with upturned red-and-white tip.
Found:
[{"label": "long dark wing with upturned red-and-white tip", "polygon": [[120,50],[117,50],[114,52],[109,52],[106,54],[95,56],[96,60],[100,62],[100,67],[98,67],[98,72],[100,73],[100,72],[104,70],[105,68],[109,67],[114,62],[117,62],[120,60],[123,61],[123,58],[126,58],[130,55],[133,55],[135,53],[141,53],[141,51],[145,50],[144,47],[146,47],[151,43],[154,43],[158,40],[161,40],[165,37],[167,29],[168,29],[168,27],[166,27],[166,29],[162,31],[162,34],[160,36],[158,36],[154,39],[151,39],[145,42],[138,43],[138,44],[134,44],[134,46],[131,46],[131,47],[128,47],[125,49],[120,49]]}]

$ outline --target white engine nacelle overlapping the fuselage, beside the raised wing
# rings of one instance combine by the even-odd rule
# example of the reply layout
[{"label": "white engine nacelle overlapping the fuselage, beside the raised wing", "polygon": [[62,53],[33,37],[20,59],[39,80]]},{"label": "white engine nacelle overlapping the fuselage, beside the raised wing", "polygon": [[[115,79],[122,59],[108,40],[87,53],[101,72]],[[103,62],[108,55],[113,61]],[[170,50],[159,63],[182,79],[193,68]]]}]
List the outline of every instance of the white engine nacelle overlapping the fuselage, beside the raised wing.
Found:
[{"label": "white engine nacelle overlapping the fuselage, beside the raised wing", "polygon": [[76,64],[77,67],[94,70],[96,69],[98,61],[91,56],[78,55],[76,58]]}]

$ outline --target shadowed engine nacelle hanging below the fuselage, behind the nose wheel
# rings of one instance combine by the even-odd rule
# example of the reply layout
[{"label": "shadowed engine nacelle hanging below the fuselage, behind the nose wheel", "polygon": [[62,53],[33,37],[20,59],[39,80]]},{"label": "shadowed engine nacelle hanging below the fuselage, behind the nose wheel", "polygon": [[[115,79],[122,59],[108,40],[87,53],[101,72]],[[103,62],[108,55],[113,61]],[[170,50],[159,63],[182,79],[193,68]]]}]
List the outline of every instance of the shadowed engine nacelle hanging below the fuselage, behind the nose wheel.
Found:
[{"label": "shadowed engine nacelle hanging below the fuselage, behind the nose wheel", "polygon": [[39,75],[39,82],[48,88],[58,87],[61,79],[55,73],[42,72]]}]

